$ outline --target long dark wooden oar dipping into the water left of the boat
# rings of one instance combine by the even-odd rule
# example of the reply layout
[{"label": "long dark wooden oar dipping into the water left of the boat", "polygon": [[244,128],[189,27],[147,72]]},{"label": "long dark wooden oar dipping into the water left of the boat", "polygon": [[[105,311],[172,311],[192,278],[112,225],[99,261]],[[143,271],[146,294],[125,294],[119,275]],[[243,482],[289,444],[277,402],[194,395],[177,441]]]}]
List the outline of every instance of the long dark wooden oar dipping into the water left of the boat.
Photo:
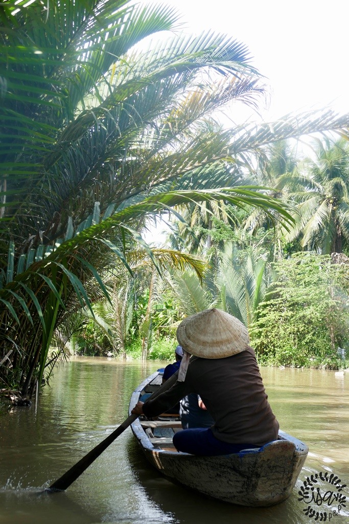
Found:
[{"label": "long dark wooden oar dipping into the water left of the boat", "polygon": [[[149,398],[155,398],[158,395],[160,395],[162,392],[169,389],[177,380],[178,372],[176,372],[172,377],[170,377],[164,384],[160,386],[157,391],[155,391],[151,397]],[[129,425],[132,424],[136,419],[138,418],[138,415],[130,415],[125,421],[122,422],[122,424],[119,425],[119,427],[110,433],[110,435],[107,436],[106,439],[104,439],[102,442],[100,442],[96,447],[94,447],[93,450],[89,451],[87,455],[82,457],[80,461],[78,461],[74,466],[70,468],[64,475],[62,475],[57,481],[55,481],[49,488],[47,488],[45,491],[54,493],[59,491],[64,491],[66,488],[68,488],[71,484],[73,484],[74,481],[76,481],[77,477],[80,477],[82,473],[88,468],[89,465],[91,465],[97,457],[101,453],[104,452],[107,447],[114,442],[115,439],[118,438],[119,435],[123,431],[126,430],[126,428],[129,427]]]}]

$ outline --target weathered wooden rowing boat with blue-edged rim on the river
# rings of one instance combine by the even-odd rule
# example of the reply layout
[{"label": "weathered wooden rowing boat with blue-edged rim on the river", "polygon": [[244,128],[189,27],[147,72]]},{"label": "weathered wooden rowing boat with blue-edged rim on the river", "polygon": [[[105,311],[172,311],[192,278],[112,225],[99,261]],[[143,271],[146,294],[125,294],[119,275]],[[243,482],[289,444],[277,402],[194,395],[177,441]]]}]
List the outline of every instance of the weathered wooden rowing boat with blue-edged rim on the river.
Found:
[{"label": "weathered wooden rowing boat with blue-edged rim on the river", "polygon": [[[133,392],[129,412],[140,396],[160,387],[162,375],[154,373]],[[272,506],[286,500],[307,458],[308,446],[279,431],[278,440],[259,449],[204,457],[177,452],[172,436],[181,431],[175,414],[157,420],[142,416],[131,424],[149,462],[170,480],[196,491],[241,506]]]}]

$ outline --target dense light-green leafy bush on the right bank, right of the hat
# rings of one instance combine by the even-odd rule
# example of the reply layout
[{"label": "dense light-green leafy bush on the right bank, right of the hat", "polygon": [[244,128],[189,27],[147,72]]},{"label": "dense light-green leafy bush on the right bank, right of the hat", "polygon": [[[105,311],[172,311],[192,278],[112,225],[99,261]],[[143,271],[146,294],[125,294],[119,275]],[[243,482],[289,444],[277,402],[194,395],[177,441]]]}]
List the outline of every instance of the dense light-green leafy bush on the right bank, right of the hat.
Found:
[{"label": "dense light-green leafy bush on the right bank, right of the hat", "polygon": [[338,368],[349,343],[345,275],[328,256],[297,253],[275,264],[278,280],[250,331],[262,365]]}]

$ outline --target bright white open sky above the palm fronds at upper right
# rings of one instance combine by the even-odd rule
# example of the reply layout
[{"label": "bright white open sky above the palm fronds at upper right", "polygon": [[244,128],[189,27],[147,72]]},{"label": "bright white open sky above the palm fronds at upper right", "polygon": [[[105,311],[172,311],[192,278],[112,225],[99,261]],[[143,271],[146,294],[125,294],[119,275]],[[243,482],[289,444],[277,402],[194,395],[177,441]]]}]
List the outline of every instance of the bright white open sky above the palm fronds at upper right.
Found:
[{"label": "bright white open sky above the palm fronds at upper right", "polygon": [[[246,44],[253,65],[271,86],[269,109],[261,107],[266,121],[327,106],[340,113],[349,112],[347,0],[154,2],[176,7],[185,32],[200,34],[211,29]],[[245,111],[244,119],[258,118],[251,109]],[[235,119],[238,115],[229,116]]]}]

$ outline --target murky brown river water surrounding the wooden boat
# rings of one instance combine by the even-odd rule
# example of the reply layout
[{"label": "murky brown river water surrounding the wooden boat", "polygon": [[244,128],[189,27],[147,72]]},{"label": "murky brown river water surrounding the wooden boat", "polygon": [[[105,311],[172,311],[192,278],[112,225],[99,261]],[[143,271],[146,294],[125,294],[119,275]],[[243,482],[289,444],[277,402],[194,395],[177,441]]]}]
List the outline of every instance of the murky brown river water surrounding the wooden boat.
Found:
[{"label": "murky brown river water surrounding the wooden boat", "polygon": [[[311,508],[349,522],[349,372],[262,368],[280,428],[309,445],[296,488],[269,508],[234,506],[174,485],[144,459],[130,428],[65,491],[42,493],[127,418],[131,392],[162,362],[72,358],[56,370],[38,406],[0,407],[0,524],[312,524],[298,490],[307,476],[334,473],[344,504],[320,481]],[[342,498],[343,500],[343,498]]]}]

